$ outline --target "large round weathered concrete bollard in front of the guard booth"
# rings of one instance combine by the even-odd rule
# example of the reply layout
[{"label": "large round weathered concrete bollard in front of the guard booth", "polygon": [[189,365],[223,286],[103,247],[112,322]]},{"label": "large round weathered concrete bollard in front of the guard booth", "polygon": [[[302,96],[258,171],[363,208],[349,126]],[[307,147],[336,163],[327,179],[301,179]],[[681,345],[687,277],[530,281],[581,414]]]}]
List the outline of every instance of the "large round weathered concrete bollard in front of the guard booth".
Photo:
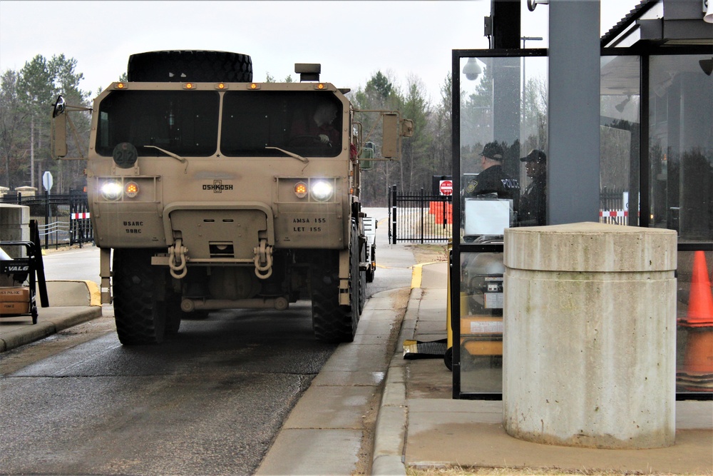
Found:
[{"label": "large round weathered concrete bollard in front of the guard booth", "polygon": [[677,236],[573,223],[505,232],[503,425],[596,448],[675,440]]}]

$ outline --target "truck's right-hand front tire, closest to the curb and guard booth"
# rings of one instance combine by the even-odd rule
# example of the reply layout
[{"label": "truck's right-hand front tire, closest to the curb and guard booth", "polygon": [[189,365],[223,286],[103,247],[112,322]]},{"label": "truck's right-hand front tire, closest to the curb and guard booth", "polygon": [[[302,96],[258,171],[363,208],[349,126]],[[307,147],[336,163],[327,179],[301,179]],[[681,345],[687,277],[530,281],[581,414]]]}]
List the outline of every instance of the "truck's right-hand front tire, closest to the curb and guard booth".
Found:
[{"label": "truck's right-hand front tire, closest to the curb and guard booth", "polygon": [[325,259],[312,267],[312,330],[317,340],[327,343],[354,341],[359,324],[359,236],[356,221],[352,221],[352,240],[349,246],[349,305],[339,305],[339,255]]}]

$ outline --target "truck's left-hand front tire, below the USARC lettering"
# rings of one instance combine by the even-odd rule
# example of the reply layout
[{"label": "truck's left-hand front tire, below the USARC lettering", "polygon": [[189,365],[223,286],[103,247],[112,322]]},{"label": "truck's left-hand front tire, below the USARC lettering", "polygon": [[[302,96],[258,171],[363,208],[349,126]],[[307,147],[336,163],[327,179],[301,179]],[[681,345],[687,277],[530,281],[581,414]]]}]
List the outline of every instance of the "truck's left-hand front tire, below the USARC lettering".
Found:
[{"label": "truck's left-hand front tire, below the USARC lettering", "polygon": [[[113,258],[114,317],[123,345],[163,342],[166,306],[163,273],[146,250],[118,249]],[[158,291],[158,292],[157,292]]]}]

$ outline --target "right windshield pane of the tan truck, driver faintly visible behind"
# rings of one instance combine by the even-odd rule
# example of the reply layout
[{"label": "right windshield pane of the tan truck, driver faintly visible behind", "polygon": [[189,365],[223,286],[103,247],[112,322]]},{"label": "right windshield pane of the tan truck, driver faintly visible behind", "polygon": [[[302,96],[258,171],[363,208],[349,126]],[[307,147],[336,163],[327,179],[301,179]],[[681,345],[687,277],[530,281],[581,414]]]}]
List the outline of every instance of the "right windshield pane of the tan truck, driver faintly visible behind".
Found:
[{"label": "right windshield pane of the tan truck, driver faintly visible behind", "polygon": [[284,153],[335,157],[342,150],[342,103],[324,91],[227,91],[220,151],[233,157]]}]

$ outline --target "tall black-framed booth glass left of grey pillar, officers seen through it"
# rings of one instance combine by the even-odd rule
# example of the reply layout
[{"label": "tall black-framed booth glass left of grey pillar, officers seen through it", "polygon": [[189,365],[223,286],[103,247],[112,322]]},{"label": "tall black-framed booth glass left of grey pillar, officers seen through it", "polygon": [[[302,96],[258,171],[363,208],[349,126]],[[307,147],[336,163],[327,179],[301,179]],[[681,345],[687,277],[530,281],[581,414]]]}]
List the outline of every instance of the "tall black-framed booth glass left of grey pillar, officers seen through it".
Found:
[{"label": "tall black-framed booth glass left of grey pillar, officers seen through it", "polygon": [[453,54],[453,393],[499,397],[503,233],[547,222],[547,58],[540,49]]}]

